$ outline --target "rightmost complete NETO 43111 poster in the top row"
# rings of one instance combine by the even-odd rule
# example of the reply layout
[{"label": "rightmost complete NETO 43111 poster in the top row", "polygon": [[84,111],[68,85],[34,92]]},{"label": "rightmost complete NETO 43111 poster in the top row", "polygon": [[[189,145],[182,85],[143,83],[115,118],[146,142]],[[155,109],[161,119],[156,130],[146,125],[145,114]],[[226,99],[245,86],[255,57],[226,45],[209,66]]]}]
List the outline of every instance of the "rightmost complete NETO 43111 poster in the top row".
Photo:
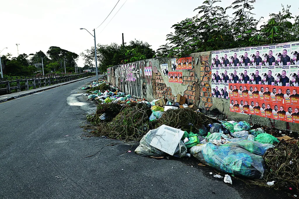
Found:
[{"label": "rightmost complete NETO 43111 poster in the top row", "polygon": [[276,45],[276,62],[275,65],[290,65],[291,64],[291,44],[283,43]]}]

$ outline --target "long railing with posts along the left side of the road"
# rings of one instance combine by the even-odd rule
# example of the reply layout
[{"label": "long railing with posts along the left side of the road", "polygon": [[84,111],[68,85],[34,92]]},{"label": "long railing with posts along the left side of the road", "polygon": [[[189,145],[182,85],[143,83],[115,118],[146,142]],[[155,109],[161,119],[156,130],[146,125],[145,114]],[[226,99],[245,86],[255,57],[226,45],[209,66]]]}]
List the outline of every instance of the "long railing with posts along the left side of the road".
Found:
[{"label": "long railing with posts along the left side of the road", "polygon": [[[7,94],[11,93],[13,89],[17,89],[16,92],[21,90],[29,90],[29,87],[41,88],[42,86],[58,84],[62,82],[68,82],[74,79],[80,79],[83,77],[92,76],[94,73],[79,73],[79,74],[63,74],[58,75],[45,75],[45,76],[24,76],[27,79],[16,79],[8,81],[0,81],[0,95],[3,95],[6,91]],[[16,77],[14,77],[16,78]],[[23,78],[23,77],[22,77]],[[4,79],[4,78],[3,78]],[[2,79],[2,80],[3,80]],[[10,79],[10,77],[8,78]],[[5,85],[5,86],[3,86]],[[5,88],[3,88],[5,87]]]}]

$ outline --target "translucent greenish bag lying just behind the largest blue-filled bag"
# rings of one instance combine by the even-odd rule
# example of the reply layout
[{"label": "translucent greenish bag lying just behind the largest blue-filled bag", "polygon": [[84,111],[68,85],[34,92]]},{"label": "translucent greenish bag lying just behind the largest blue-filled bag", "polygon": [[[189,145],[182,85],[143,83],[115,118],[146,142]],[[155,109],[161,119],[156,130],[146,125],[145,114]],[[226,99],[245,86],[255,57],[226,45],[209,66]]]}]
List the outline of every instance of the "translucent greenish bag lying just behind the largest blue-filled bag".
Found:
[{"label": "translucent greenish bag lying just behind the largest blue-filled bag", "polygon": [[246,151],[263,156],[267,149],[274,147],[272,144],[261,144],[256,141],[249,141],[249,140],[242,140],[242,141],[237,141],[237,142],[230,142],[224,144],[225,146],[234,146],[234,147],[239,147],[242,149],[245,149]]}]

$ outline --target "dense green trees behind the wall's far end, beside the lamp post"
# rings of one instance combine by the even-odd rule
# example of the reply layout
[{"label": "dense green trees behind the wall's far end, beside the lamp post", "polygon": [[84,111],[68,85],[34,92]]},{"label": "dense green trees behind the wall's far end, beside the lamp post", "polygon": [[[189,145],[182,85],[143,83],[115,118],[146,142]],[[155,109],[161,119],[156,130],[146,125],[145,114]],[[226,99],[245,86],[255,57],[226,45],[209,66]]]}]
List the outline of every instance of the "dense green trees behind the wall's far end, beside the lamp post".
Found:
[{"label": "dense green trees behind the wall's far end, beside the lamp post", "polygon": [[[107,67],[136,62],[143,59],[153,58],[155,51],[150,48],[147,42],[138,40],[130,41],[129,45],[118,45],[112,43],[110,45],[97,45],[97,61],[98,69],[106,71]],[[86,65],[93,66],[95,62],[94,47],[85,50],[80,54]]]}]

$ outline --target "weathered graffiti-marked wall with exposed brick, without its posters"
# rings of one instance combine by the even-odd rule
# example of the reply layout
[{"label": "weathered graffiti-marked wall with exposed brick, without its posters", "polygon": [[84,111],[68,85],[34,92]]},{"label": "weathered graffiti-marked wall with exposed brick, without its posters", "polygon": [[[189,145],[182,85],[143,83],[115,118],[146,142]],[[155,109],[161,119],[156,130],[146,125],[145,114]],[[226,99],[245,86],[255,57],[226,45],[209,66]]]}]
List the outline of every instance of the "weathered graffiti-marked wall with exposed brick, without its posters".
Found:
[{"label": "weathered graffiti-marked wall with exposed brick, without its posters", "polygon": [[[168,76],[164,76],[160,69],[161,64],[168,64],[168,71],[171,71],[171,58],[147,59],[110,67],[107,69],[108,81],[126,94],[148,101],[163,97],[174,101],[177,94],[184,95],[189,103],[219,120],[245,120],[252,124],[299,131],[299,124],[230,112],[230,100],[212,98],[211,52],[192,53],[190,56],[193,57],[192,70],[179,70],[183,73],[182,84],[168,82]],[[152,76],[145,76],[144,67],[149,66],[152,66]]]}]

